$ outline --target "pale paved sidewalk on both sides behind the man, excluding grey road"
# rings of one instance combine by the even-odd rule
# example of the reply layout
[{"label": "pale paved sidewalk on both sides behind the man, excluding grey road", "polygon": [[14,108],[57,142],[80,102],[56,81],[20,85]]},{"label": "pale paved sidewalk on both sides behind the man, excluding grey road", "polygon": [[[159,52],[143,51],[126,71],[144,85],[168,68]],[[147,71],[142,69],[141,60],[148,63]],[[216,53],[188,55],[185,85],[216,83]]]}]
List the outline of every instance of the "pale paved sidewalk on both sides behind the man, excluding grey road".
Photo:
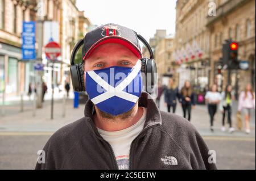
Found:
[{"label": "pale paved sidewalk on both sides behind the man, excluding grey road", "polygon": [[[63,107],[62,99],[55,100],[54,119],[50,119],[51,101],[48,99],[42,109],[36,110],[36,115],[32,116],[32,103],[24,103],[24,112],[19,112],[19,104],[8,107],[6,116],[0,117],[0,132],[55,132],[63,125],[72,123],[84,116],[84,105],[80,104],[79,108],[73,108],[73,100],[68,99]],[[63,117],[65,110],[65,117]],[[160,110],[167,111],[164,107],[163,96],[160,101]],[[236,108],[234,108],[236,110]],[[236,111],[233,111],[233,125],[236,127]],[[182,116],[181,106],[177,105],[176,114]],[[236,131],[232,134],[221,132],[222,115],[218,111],[214,120],[214,132],[209,130],[209,115],[207,106],[197,105],[192,110],[191,123],[196,127],[202,136],[229,136],[229,137],[255,137],[255,111],[254,119],[251,119],[251,133],[245,134],[243,131]],[[228,124],[226,124],[228,129]]]}]

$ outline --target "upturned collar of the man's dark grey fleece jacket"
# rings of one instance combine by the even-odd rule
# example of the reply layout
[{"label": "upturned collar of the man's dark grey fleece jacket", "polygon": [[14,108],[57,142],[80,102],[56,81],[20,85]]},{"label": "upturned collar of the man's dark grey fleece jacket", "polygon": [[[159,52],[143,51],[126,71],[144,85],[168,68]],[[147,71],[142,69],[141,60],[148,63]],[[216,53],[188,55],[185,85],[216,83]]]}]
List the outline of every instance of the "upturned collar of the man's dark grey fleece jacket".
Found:
[{"label": "upturned collar of the man's dark grey fleece jacket", "polygon": [[[162,118],[160,115],[159,108],[156,106],[154,99],[148,94],[147,92],[142,92],[141,97],[139,98],[139,106],[147,107],[147,114],[146,114],[146,121],[144,124],[144,128],[151,127],[152,125],[162,124]],[[94,106],[91,100],[88,100],[85,104],[84,116],[86,121],[90,122],[91,127],[94,131],[97,128],[93,122],[93,113],[94,113]]]}]

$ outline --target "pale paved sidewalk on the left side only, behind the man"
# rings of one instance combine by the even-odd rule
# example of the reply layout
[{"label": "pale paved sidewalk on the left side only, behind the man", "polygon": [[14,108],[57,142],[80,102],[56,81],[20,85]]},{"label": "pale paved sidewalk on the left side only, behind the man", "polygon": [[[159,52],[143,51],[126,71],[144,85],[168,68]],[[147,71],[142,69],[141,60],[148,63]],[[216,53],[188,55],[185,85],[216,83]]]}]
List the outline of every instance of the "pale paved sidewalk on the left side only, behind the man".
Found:
[{"label": "pale paved sidewalk on the left side only, behind the man", "polygon": [[[10,106],[12,110],[17,109]],[[65,116],[63,117],[63,110]],[[44,103],[43,108],[37,109],[33,115],[32,105],[27,104],[24,112],[15,112],[13,115],[6,115],[0,118],[0,131],[5,132],[55,132],[66,124],[72,123],[84,116],[84,105],[73,108],[73,100],[68,99],[65,107],[62,100],[56,100],[53,107],[53,120],[51,120],[50,100]]]}]

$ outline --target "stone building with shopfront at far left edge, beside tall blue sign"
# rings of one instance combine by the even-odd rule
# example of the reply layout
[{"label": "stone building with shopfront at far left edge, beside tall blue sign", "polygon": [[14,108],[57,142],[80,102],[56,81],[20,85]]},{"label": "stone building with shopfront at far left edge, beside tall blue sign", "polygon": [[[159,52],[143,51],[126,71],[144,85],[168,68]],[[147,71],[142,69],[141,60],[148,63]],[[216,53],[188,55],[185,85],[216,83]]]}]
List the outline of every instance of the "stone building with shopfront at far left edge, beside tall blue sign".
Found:
[{"label": "stone building with shopfront at far left edge, beside tall blue sign", "polygon": [[35,21],[35,1],[0,0],[0,93],[27,91],[31,66],[22,61],[22,22]]}]

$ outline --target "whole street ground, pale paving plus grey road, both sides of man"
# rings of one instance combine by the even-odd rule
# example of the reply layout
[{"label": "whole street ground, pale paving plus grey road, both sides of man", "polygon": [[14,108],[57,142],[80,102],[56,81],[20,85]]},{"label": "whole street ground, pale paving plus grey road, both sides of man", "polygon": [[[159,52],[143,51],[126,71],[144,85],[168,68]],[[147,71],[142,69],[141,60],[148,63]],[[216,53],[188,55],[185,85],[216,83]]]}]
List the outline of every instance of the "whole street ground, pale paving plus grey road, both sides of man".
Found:
[{"label": "whole street ground, pale paving plus grey road, both sides of man", "polygon": [[[15,102],[13,102],[15,103]],[[19,110],[19,104],[7,106],[9,110]],[[9,112],[1,117],[0,123],[0,169],[34,169],[37,151],[43,149],[48,138],[57,129],[80,119],[84,115],[84,105],[73,108],[73,100],[68,99],[63,117],[63,103],[56,100],[54,119],[50,119],[50,101],[46,100],[41,110],[32,116],[32,107],[27,102],[24,112]],[[160,110],[166,111],[161,98]],[[177,115],[182,115],[177,106]],[[244,131],[221,132],[221,114],[214,120],[214,132],[209,129],[207,107],[198,105],[192,110],[191,123],[203,136],[209,149],[216,150],[218,169],[255,169],[255,112],[251,119],[251,133]],[[233,124],[236,117],[233,114]],[[228,128],[228,125],[226,125]]]}]

